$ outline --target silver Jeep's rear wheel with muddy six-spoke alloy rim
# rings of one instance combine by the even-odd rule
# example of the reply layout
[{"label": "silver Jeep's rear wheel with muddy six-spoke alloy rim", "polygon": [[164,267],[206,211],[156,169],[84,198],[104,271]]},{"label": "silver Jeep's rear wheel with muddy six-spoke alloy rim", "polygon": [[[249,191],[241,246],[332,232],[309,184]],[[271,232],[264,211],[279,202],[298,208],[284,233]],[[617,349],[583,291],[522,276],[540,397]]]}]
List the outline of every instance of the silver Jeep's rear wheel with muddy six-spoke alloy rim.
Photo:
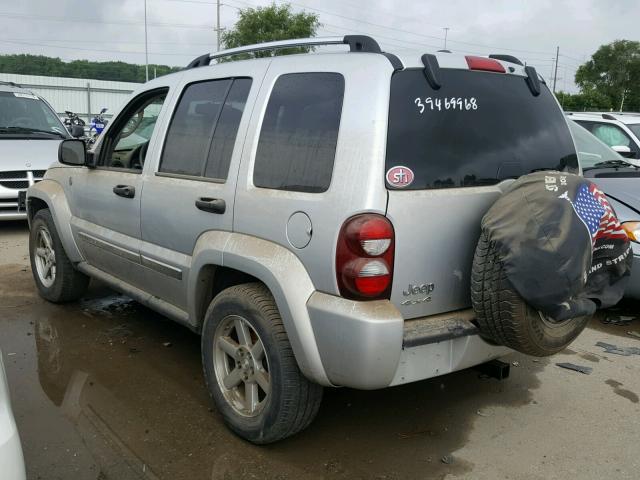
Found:
[{"label": "silver Jeep's rear wheel with muddy six-spoke alloy rim", "polygon": [[294,435],[318,413],[322,387],[300,372],[273,296],[260,283],[230,287],[211,302],[202,363],[225,423],[252,443]]}]

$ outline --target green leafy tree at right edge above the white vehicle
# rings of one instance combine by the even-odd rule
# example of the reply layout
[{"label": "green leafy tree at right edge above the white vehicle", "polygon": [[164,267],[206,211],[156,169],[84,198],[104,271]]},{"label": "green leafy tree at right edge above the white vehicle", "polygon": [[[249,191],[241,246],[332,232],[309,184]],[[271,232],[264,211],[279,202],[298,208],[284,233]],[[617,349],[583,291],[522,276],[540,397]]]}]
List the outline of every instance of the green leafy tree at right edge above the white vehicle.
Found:
[{"label": "green leafy tree at right edge above the white vehicle", "polygon": [[578,68],[576,84],[582,93],[605,95],[615,110],[640,109],[640,42],[602,45]]}]

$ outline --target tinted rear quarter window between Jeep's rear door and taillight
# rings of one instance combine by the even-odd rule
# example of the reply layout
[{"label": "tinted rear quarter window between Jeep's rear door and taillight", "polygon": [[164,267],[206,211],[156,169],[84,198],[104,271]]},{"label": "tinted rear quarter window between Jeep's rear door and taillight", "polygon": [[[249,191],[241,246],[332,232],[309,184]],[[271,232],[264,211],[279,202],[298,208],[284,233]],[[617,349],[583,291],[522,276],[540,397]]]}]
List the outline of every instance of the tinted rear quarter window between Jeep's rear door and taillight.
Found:
[{"label": "tinted rear quarter window between Jeep's rear door and taillight", "polygon": [[329,188],[336,154],[344,77],[292,73],[276,81],[256,152],[257,187],[320,193]]}]

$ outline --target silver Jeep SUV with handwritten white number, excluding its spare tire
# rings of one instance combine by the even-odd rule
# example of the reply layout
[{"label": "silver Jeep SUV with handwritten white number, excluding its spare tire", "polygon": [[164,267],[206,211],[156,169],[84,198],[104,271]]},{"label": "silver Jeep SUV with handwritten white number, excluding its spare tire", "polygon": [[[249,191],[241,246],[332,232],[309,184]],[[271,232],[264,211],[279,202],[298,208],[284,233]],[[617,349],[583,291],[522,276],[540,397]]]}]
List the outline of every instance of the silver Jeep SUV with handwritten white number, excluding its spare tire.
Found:
[{"label": "silver Jeep SUV with handwritten white number, excluding its spare tire", "polygon": [[[333,44],[349,51],[209,65]],[[211,395],[254,443],[309,425],[322,387],[508,353],[470,308],[480,220],[510,179],[578,168],[533,68],[361,36],[199,57],[59,157],[28,192],[41,295],[77,299],[93,277],[201,334]]]}]

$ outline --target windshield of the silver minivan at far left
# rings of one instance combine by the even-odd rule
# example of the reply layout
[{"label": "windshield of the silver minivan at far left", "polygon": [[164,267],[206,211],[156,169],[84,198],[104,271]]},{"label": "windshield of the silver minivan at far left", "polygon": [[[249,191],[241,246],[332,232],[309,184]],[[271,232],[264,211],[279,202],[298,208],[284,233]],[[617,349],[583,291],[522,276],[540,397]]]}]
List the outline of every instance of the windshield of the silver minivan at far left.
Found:
[{"label": "windshield of the silver minivan at far left", "polygon": [[0,138],[67,137],[57,115],[36,95],[0,92]]}]

